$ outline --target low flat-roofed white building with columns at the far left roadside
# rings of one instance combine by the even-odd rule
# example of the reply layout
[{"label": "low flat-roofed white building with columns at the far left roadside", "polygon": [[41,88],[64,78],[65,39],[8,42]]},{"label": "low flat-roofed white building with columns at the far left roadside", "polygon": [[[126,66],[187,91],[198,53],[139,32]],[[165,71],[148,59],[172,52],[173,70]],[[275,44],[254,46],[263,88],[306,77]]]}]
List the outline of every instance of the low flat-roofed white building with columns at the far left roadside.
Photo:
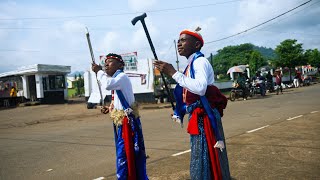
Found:
[{"label": "low flat-roofed white building with columns at the far left roadside", "polygon": [[68,97],[66,75],[70,66],[35,64],[0,73],[0,97],[8,98],[12,86],[27,101],[61,103]]}]

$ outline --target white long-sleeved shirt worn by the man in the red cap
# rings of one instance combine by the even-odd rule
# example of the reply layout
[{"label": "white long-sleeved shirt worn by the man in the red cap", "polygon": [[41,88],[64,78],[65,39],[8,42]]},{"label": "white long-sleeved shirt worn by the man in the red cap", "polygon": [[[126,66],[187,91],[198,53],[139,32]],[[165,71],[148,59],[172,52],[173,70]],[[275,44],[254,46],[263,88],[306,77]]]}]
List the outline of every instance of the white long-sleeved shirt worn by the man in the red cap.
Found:
[{"label": "white long-sleeved shirt worn by the man in the red cap", "polygon": [[[188,64],[190,65],[195,53],[188,58]],[[188,91],[203,96],[206,93],[207,86],[214,83],[214,72],[211,64],[205,57],[199,57],[193,62],[194,79],[191,78],[190,68],[188,69],[188,76],[181,72],[173,74],[172,78],[176,82],[186,88]]]}]

